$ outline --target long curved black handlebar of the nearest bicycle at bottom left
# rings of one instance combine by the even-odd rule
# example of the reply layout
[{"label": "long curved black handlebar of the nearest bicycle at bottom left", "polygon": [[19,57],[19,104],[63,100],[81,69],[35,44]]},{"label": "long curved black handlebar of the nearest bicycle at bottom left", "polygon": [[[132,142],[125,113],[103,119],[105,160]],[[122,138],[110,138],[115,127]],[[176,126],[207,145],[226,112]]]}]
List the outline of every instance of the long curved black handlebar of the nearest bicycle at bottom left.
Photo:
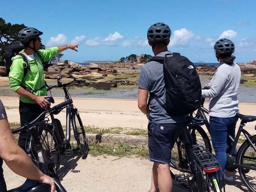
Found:
[{"label": "long curved black handlebar of the nearest bicycle at bottom left", "polygon": [[58,105],[56,105],[56,106],[54,106],[54,107],[52,107],[52,108],[50,108],[50,109],[48,109],[48,110],[45,110],[44,112],[42,112],[42,113],[41,113],[36,119],[34,119],[33,121],[29,122],[28,124],[26,124],[26,125],[24,125],[24,126],[18,128],[18,129],[12,130],[12,133],[18,133],[18,132],[21,132],[21,131],[23,131],[23,130],[26,130],[26,129],[28,129],[30,126],[32,126],[32,125],[34,125],[36,122],[38,122],[38,120],[42,119],[42,118],[45,116],[46,113],[54,112],[55,110],[59,110],[59,109],[65,107],[65,106],[67,106],[67,105],[69,105],[69,104],[72,104],[72,103],[73,103],[72,99],[71,99],[71,100],[67,100],[67,101],[62,102],[62,103],[60,103],[60,104],[58,104]]}]

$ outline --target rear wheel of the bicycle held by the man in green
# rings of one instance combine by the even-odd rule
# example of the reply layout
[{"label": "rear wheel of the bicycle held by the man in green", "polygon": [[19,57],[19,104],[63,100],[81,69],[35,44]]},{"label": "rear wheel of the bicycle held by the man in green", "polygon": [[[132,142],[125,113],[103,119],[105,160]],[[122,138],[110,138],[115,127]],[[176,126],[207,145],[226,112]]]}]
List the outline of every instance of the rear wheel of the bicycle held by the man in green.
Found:
[{"label": "rear wheel of the bicycle held by the man in green", "polygon": [[[56,148],[58,146],[58,140],[54,134],[54,132],[47,127],[39,128],[38,138],[43,148],[46,164],[48,166],[48,170],[50,174],[58,177],[58,170],[60,169],[60,148]],[[31,150],[30,157],[38,165],[37,153],[34,149],[33,139],[31,139]]]}]

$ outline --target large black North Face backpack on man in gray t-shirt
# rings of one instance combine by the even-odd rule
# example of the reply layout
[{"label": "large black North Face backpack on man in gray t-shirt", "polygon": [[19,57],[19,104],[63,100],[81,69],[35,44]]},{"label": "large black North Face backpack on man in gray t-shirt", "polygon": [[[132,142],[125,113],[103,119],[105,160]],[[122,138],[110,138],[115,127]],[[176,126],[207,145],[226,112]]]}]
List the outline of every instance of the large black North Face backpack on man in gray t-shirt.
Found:
[{"label": "large black North Face backpack on man in gray t-shirt", "polygon": [[[172,55],[168,56],[167,55]],[[166,103],[163,104],[154,94],[150,96],[171,116],[182,116],[198,109],[202,99],[200,78],[194,64],[179,53],[166,54],[165,57],[153,57],[150,61],[164,65],[164,83]]]}]

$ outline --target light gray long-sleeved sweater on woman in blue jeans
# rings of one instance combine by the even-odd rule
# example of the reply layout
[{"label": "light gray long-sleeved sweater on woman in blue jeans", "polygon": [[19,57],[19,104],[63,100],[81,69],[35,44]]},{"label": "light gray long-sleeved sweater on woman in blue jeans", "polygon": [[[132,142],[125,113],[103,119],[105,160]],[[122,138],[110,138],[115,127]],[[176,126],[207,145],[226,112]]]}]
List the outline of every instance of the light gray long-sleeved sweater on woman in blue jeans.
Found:
[{"label": "light gray long-sleeved sweater on woman in blue jeans", "polygon": [[240,78],[238,64],[220,64],[210,81],[210,89],[202,90],[202,97],[211,98],[210,116],[227,118],[234,117],[239,112],[237,90]]}]

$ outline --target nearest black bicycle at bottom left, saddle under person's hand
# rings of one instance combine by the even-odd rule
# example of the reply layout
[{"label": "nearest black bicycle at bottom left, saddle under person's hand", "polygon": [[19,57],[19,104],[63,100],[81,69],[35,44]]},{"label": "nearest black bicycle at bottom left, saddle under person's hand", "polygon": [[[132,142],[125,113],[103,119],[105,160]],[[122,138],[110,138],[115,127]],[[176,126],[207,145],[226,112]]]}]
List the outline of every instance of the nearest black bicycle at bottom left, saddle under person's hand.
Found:
[{"label": "nearest black bicycle at bottom left, saddle under person's hand", "polygon": [[[33,141],[33,146],[35,146],[35,152],[37,154],[37,161],[38,161],[38,168],[46,175],[54,178],[54,182],[56,185],[56,191],[57,192],[66,192],[65,188],[62,186],[58,178],[54,173],[52,173],[52,170],[48,168],[48,162],[47,162],[47,157],[46,157],[46,150],[42,145],[42,138],[40,136],[41,130],[45,130],[47,127],[47,121],[42,121],[42,118],[47,113],[51,112],[58,112],[60,109],[64,108],[65,106],[72,104],[72,100],[63,102],[61,104],[58,104],[54,106],[53,108],[42,112],[35,120],[32,122],[18,128],[15,130],[12,130],[12,133],[19,133],[23,130],[27,130]],[[22,184],[20,187],[8,190],[8,192],[50,192],[50,186],[47,184],[40,184],[34,180],[29,180],[27,179],[24,184]]]}]

